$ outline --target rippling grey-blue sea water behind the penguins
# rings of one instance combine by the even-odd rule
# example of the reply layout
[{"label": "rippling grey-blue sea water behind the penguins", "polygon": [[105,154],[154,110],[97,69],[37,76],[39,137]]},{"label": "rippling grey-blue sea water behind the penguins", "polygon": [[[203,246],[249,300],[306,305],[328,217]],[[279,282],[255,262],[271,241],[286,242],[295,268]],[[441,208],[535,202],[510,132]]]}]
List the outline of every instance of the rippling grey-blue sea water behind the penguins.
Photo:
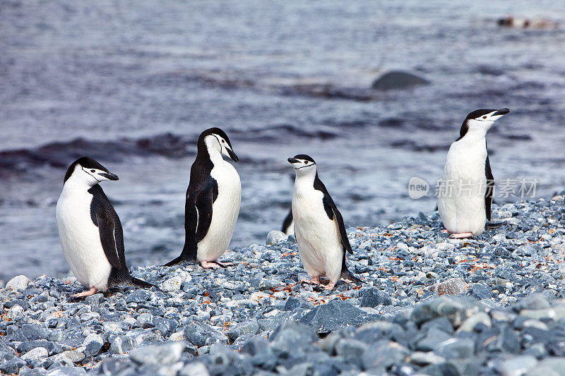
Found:
[{"label": "rippling grey-blue sea water behind the penguins", "polygon": [[[499,28],[504,16],[556,28]],[[468,112],[509,107],[489,132],[494,177],[565,186],[565,7],[559,1],[0,1],[0,279],[69,272],[54,207],[88,155],[124,225],[129,265],[184,241],[198,134],[240,157],[232,245],[264,241],[290,207],[287,157],[310,154],[346,224],[435,207]],[[377,92],[406,70],[432,82]],[[418,176],[431,191],[408,195]],[[499,197],[496,202],[519,200]]]}]

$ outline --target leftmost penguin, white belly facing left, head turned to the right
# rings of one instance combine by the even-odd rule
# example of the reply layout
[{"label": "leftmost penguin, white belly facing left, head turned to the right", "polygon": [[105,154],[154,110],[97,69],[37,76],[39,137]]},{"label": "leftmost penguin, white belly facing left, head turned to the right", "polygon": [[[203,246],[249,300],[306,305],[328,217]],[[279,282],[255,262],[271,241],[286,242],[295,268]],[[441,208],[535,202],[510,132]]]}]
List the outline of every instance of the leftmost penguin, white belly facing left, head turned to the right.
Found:
[{"label": "leftmost penguin, white belly facing left, head turned to the right", "polygon": [[118,180],[118,176],[92,158],[79,158],[67,169],[57,200],[61,248],[76,279],[88,287],[73,298],[103,292],[121,283],[143,289],[153,286],[129,274],[118,214],[98,185],[107,180]]}]

